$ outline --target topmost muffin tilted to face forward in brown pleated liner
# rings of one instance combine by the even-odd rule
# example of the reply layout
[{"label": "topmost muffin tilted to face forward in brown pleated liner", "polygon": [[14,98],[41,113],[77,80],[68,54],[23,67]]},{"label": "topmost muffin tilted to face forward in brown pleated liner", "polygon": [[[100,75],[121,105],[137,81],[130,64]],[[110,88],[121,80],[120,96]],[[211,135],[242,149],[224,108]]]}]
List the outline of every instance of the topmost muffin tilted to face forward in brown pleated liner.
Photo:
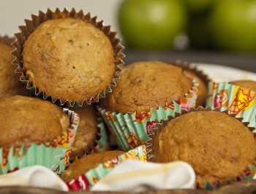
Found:
[{"label": "topmost muffin tilted to face forward in brown pleated liner", "polygon": [[[34,20],[39,20],[37,24]],[[13,52],[27,87],[36,95],[68,106],[91,104],[116,85],[123,47],[109,26],[75,9],[33,17],[17,35]],[[22,34],[22,35],[21,35]],[[23,44],[23,42],[25,42]],[[20,55],[21,53],[21,55]]]}]

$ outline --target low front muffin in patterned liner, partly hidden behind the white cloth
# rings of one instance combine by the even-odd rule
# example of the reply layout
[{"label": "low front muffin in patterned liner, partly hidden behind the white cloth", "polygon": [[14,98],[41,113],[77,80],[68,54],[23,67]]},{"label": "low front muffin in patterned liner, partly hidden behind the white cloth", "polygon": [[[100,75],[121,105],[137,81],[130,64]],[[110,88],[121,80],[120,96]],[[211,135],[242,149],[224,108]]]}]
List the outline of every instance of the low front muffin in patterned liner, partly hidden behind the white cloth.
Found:
[{"label": "low front muffin in patterned liner, partly hidden behind the white cloth", "polygon": [[118,164],[124,160],[147,161],[146,147],[136,147],[129,152],[118,150],[97,152],[75,160],[61,178],[67,183],[69,191],[91,190],[97,182],[110,173]]}]

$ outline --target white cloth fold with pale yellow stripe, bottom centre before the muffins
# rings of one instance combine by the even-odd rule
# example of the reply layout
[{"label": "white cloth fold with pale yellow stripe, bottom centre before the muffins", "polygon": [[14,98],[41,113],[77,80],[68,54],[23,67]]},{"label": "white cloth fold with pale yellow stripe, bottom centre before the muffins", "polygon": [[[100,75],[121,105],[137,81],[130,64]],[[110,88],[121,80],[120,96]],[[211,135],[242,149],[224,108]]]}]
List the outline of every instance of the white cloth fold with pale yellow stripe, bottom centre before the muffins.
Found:
[{"label": "white cloth fold with pale yellow stripe, bottom centre before the muffins", "polygon": [[145,192],[176,188],[192,189],[194,185],[195,171],[188,163],[143,163],[125,160],[99,180],[92,190]]}]

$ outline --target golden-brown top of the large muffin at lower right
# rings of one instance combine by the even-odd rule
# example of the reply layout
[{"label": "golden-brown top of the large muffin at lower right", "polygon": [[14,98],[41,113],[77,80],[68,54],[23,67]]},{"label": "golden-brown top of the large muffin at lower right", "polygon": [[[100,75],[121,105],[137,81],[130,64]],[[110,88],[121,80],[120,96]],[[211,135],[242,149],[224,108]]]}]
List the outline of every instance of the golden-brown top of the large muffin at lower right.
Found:
[{"label": "golden-brown top of the large muffin at lower right", "polygon": [[183,160],[201,186],[242,175],[254,163],[255,138],[243,123],[223,112],[189,112],[170,122],[154,141],[155,162]]}]

